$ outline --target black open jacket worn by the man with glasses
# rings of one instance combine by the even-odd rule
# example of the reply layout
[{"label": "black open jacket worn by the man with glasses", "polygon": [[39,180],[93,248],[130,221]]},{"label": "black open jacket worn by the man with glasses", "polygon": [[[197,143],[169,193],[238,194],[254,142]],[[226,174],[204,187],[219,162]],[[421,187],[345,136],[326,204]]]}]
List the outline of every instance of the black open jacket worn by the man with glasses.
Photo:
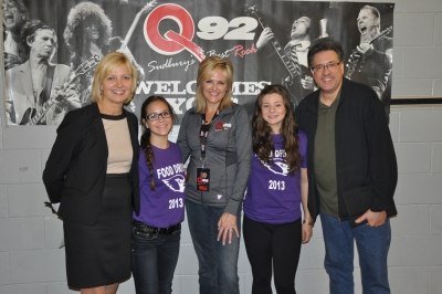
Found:
[{"label": "black open jacket worn by the man with glasses", "polygon": [[[307,134],[308,210],[319,213],[313,154],[319,91],[305,97],[295,111],[299,129]],[[335,120],[336,180],[339,218],[348,219],[343,192],[370,185],[371,211],[397,214],[393,195],[398,182],[396,154],[383,106],[367,85],[344,78]]]}]

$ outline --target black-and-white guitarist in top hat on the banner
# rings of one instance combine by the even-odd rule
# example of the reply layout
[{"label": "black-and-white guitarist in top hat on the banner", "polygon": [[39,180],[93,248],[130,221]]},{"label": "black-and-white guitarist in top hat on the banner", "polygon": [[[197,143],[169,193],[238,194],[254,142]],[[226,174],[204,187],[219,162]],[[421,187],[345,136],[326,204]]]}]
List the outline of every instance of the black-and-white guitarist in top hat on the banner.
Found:
[{"label": "black-and-white guitarist in top hat on the banner", "polygon": [[[296,64],[301,70],[301,74],[296,77],[298,81],[291,81],[290,75],[285,74],[286,71],[281,71],[281,74],[284,73],[284,75],[280,77],[281,81],[276,81],[274,76],[271,80],[272,83],[284,84],[287,86],[291,94],[296,96],[296,101],[294,102],[295,107],[302,98],[314,91],[315,86],[307,65],[307,53],[311,46],[311,25],[312,20],[308,17],[301,17],[295,20],[290,31],[291,40],[284,46],[284,52],[287,54],[290,62]],[[275,67],[274,63],[282,63],[282,61],[277,61],[276,57],[273,57],[276,55],[276,52],[271,45],[269,45],[271,40],[274,38],[275,35],[272,32],[272,29],[267,27],[262,31],[256,41],[260,57],[269,59],[269,61],[273,63],[273,67]],[[291,84],[297,88],[291,91]],[[297,93],[297,95],[295,93]]]}]

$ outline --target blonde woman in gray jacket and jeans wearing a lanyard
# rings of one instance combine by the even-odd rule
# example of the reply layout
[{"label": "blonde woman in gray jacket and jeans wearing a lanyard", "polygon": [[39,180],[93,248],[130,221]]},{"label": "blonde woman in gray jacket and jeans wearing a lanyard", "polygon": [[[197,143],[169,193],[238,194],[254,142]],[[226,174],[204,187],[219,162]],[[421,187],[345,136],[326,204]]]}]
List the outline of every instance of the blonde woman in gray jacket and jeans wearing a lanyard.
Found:
[{"label": "blonde woman in gray jacket and jeans wearing a lanyard", "polygon": [[233,67],[210,56],[198,70],[194,107],[182,118],[178,145],[189,158],[186,209],[199,261],[200,293],[239,291],[241,210],[251,168],[245,109],[232,103]]}]

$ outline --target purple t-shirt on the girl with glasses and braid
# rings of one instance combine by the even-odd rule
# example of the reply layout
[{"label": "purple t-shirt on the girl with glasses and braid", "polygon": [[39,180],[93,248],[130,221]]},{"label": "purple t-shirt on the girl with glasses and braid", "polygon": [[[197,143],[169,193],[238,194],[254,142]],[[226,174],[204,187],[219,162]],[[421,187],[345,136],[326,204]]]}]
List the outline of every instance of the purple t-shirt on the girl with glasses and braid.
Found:
[{"label": "purple t-shirt on the girl with glasses and braid", "polygon": [[139,197],[141,209],[134,219],[156,228],[168,228],[185,219],[185,169],[181,150],[169,141],[167,149],[152,146],[155,154],[155,191],[150,189],[150,171],[145,151],[139,148]]}]

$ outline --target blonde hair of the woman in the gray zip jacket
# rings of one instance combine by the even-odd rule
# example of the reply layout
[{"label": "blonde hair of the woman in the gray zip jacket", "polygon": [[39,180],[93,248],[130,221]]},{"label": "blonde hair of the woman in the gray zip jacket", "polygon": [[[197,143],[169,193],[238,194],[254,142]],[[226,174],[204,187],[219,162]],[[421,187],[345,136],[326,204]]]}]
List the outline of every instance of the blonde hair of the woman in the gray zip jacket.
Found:
[{"label": "blonde hair of the woman in the gray zip jacket", "polygon": [[197,76],[197,94],[194,96],[194,109],[197,113],[206,112],[206,98],[202,94],[202,83],[210,80],[213,74],[221,70],[224,74],[227,83],[227,92],[220,104],[220,112],[225,107],[232,106],[232,85],[233,85],[233,66],[232,63],[227,59],[218,56],[206,57],[198,67]]}]

